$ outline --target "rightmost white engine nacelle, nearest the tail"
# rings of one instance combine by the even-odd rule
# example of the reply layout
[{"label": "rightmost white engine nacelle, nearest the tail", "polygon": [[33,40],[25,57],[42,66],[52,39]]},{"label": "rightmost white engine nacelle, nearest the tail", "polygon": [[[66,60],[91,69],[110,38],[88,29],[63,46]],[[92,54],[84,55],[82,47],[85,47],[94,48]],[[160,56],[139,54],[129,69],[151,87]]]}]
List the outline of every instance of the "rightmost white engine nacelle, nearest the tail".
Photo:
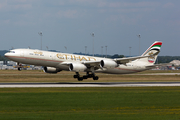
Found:
[{"label": "rightmost white engine nacelle, nearest the tail", "polygon": [[113,60],[101,60],[100,66],[102,68],[115,68],[118,64]]}]

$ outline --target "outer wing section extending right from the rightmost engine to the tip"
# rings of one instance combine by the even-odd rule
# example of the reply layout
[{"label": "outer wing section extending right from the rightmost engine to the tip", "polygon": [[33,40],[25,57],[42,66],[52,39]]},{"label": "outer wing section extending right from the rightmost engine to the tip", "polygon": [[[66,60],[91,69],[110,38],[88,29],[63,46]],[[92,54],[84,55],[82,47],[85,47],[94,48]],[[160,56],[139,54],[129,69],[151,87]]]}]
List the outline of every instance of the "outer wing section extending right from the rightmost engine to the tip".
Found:
[{"label": "outer wing section extending right from the rightmost engine to the tip", "polygon": [[136,60],[136,59],[140,59],[140,58],[146,58],[149,56],[138,56],[138,57],[128,57],[128,58],[117,58],[114,59],[118,64],[126,64],[130,61]]}]

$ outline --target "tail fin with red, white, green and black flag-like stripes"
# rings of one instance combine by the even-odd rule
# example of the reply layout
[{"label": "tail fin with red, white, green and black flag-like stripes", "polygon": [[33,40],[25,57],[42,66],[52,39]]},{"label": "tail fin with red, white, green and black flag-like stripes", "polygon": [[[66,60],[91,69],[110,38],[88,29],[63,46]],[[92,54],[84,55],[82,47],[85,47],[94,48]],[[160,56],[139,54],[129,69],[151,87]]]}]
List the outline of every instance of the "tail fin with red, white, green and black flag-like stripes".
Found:
[{"label": "tail fin with red, white, green and black flag-like stripes", "polygon": [[142,58],[140,61],[146,62],[146,64],[154,64],[156,62],[157,56],[160,52],[162,42],[155,41],[141,56],[149,56],[148,58]]}]

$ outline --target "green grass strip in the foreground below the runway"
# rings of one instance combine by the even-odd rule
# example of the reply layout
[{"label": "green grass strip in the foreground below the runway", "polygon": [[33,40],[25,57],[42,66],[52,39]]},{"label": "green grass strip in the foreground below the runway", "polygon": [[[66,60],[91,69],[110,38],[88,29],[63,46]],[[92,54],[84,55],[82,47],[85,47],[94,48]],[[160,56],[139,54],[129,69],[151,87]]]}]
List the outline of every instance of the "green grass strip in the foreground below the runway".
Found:
[{"label": "green grass strip in the foreground below the runway", "polygon": [[177,120],[180,87],[2,88],[0,119]]}]

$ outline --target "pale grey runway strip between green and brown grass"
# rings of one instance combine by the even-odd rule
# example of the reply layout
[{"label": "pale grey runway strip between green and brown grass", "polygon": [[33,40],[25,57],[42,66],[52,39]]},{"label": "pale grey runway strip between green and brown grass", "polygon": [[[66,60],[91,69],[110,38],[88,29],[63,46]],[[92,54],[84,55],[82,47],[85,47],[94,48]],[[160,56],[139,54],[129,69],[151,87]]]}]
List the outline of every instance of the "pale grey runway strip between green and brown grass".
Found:
[{"label": "pale grey runway strip between green and brown grass", "polygon": [[180,86],[180,82],[72,82],[72,83],[0,83],[0,88],[42,87],[152,87]]}]

